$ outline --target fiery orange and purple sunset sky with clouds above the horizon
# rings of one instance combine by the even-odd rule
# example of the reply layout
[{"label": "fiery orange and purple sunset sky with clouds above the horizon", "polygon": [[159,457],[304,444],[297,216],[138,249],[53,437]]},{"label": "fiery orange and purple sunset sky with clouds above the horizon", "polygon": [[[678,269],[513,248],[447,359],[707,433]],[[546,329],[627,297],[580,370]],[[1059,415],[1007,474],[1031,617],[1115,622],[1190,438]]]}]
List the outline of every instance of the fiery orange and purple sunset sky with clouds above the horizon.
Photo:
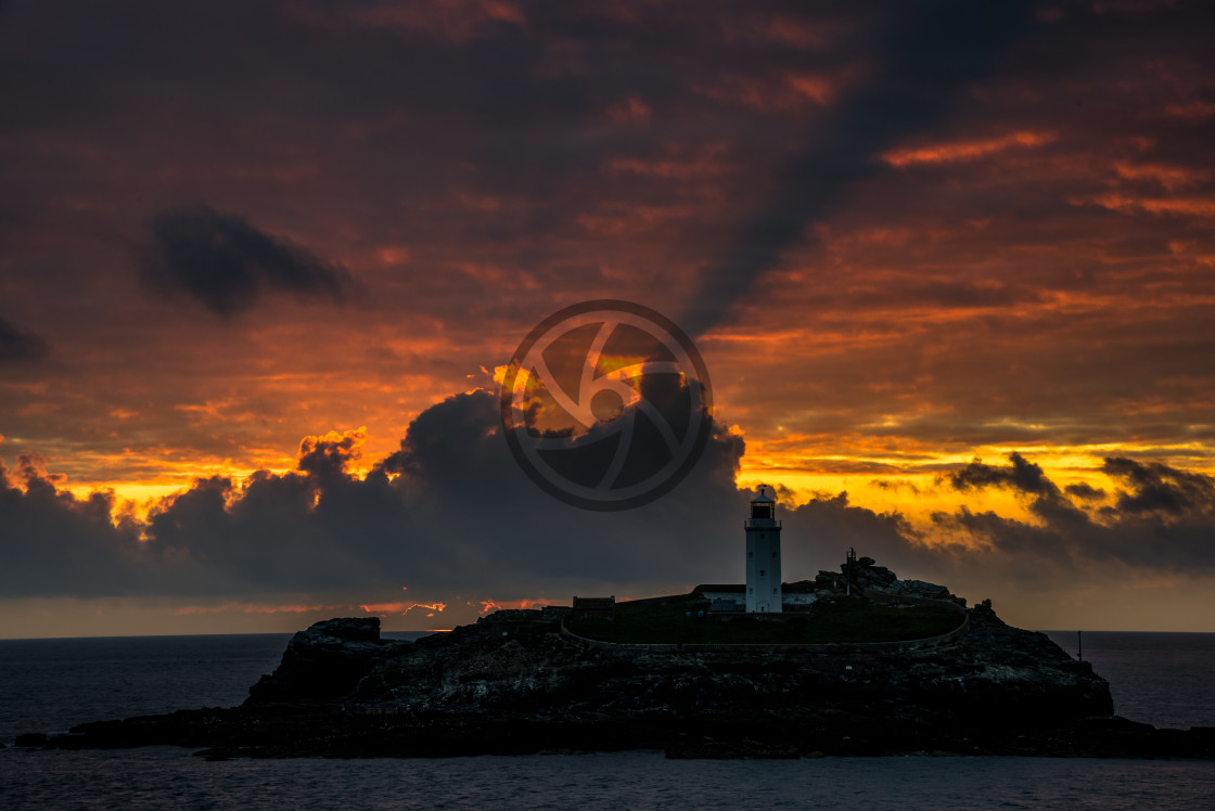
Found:
[{"label": "fiery orange and purple sunset sky with clouds above the horizon", "polygon": [[[451,628],[848,548],[1215,631],[1199,2],[0,4],[0,637]],[[555,311],[695,341],[699,464],[541,490]]]}]

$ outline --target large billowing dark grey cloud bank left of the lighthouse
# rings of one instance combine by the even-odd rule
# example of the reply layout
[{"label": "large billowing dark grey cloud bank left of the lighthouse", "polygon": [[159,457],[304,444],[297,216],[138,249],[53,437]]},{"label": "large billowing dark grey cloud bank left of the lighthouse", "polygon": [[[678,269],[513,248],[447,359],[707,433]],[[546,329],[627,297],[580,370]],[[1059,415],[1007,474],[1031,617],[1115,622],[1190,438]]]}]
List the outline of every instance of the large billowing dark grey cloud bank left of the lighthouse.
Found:
[{"label": "large billowing dark grey cloud bank left of the lighthouse", "polygon": [[[115,528],[101,501],[79,500],[45,476],[27,476],[33,482],[27,490],[5,487],[0,510],[0,522],[13,526],[16,517],[21,528],[5,533],[4,545],[19,549],[7,556],[17,563],[5,569],[2,594],[62,594],[62,586],[80,596],[366,599],[409,585],[419,595],[519,599],[738,577],[736,533],[717,528],[729,522],[741,532],[746,497],[733,486],[739,437],[718,430],[701,464],[666,498],[623,514],[592,514],[527,480],[498,420],[493,393],[451,397],[420,414],[401,450],[364,480],[346,471],[362,439],[357,431],[310,437],[301,443],[298,471],[261,471],[241,483],[199,480],[162,501],[142,526]],[[38,515],[45,515],[45,526]],[[74,528],[60,532],[68,518]],[[41,532],[60,534],[49,541]],[[63,577],[64,567],[74,571],[81,558],[78,548],[91,550],[80,571],[96,571],[96,579]],[[104,561],[92,561],[94,554]]]}]

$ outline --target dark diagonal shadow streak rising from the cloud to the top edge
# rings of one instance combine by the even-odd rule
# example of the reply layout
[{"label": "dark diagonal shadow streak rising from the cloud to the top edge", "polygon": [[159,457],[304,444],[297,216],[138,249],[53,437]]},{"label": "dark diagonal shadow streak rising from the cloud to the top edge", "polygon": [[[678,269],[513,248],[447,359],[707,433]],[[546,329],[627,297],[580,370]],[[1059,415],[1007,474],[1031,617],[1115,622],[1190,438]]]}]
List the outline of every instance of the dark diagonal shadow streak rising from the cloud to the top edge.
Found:
[{"label": "dark diagonal shadow streak rising from the cloud to the top edge", "polygon": [[[957,91],[982,76],[1033,18],[1028,5],[966,0],[899,11],[875,42],[864,85],[825,112],[780,172],[775,197],[747,217],[727,256],[705,270],[697,301],[684,316],[693,334],[713,327],[807,226],[826,217],[852,183],[874,175],[883,151],[938,121]],[[959,291],[976,295],[965,287],[946,293]]]}]

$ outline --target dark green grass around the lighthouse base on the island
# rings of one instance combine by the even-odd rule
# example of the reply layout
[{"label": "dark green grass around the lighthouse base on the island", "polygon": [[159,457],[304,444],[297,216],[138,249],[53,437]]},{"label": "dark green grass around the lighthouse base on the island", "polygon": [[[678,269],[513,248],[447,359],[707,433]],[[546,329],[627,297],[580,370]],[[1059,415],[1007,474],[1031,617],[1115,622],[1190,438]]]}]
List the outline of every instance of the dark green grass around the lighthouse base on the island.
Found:
[{"label": "dark green grass around the lighthouse base on the island", "polygon": [[[804,619],[793,622],[714,622],[705,601],[666,606],[622,607],[615,619],[582,619],[569,628],[580,636],[605,642],[701,643],[821,643],[891,642],[948,634],[961,617],[926,606],[887,606],[863,597],[819,600]],[[686,617],[686,612],[691,617]]]}]

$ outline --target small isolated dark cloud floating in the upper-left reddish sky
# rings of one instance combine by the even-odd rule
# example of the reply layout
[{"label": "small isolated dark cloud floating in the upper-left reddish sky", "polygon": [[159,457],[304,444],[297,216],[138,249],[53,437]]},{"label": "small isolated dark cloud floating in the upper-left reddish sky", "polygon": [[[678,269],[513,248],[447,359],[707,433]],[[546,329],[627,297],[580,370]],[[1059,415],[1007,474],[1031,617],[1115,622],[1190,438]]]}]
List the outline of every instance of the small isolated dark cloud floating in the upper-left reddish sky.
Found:
[{"label": "small isolated dark cloud floating in the upper-left reddish sky", "polygon": [[340,302],[356,287],[345,267],[207,205],[156,216],[152,244],[140,251],[140,279],[165,296],[188,295],[224,317],[253,307],[269,291]]}]

